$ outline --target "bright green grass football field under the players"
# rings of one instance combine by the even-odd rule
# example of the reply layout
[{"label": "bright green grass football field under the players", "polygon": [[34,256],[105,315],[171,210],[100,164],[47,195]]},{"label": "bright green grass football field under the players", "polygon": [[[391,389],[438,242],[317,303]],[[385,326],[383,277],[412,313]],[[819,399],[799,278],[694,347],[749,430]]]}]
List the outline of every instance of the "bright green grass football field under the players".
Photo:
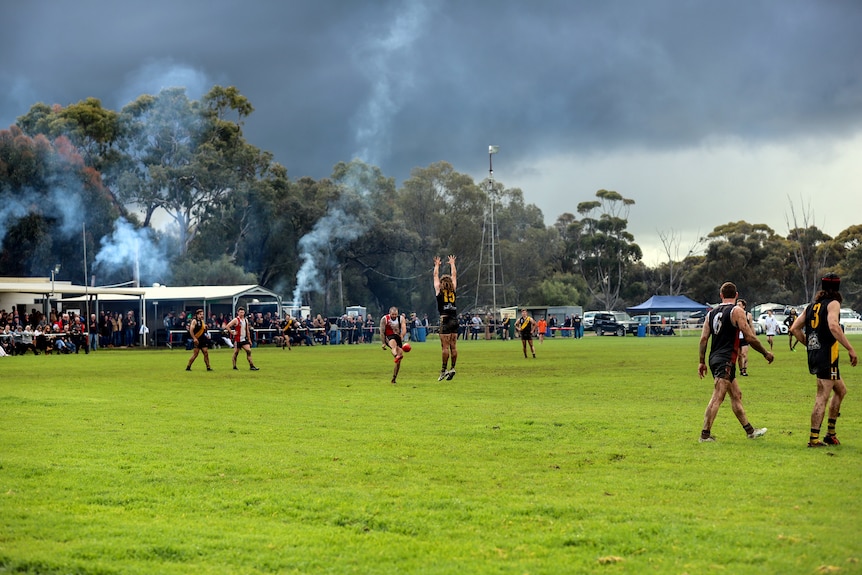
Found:
[{"label": "bright green grass football field under the players", "polygon": [[[857,349],[862,338],[851,338]],[[0,573],[862,573],[860,369],[806,448],[804,352],[700,444],[697,338],[0,359]],[[825,425],[824,425],[825,428]]]}]

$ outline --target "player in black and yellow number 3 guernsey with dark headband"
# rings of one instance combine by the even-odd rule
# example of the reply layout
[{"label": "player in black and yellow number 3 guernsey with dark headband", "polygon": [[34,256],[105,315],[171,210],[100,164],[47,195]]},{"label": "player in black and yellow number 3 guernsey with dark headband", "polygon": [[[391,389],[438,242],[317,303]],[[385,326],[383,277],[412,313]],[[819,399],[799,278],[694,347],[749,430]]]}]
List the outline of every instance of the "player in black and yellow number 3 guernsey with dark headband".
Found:
[{"label": "player in black and yellow number 3 guernsey with dark headband", "polygon": [[[841,401],[847,395],[847,386],[838,370],[838,344],[850,355],[850,365],[856,367],[859,358],[841,324],[841,278],[828,273],[820,280],[820,291],[814,296],[805,313],[799,314],[790,331],[808,350],[808,371],[817,377],[817,395],[811,411],[811,435],[808,447],[840,445],[835,435],[835,424],[841,415]],[[829,396],[832,400],[829,401]],[[829,420],[826,436],[820,439],[820,428],[829,403]]]}]

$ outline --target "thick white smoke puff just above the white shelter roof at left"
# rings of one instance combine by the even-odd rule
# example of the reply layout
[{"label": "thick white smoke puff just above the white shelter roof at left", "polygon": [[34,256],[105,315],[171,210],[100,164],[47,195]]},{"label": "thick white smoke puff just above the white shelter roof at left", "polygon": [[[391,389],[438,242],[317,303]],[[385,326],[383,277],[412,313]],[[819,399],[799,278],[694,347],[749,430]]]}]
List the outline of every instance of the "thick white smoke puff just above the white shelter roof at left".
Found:
[{"label": "thick white smoke puff just above the white shelter roof at left", "polygon": [[165,246],[153,237],[149,228],[135,228],[124,218],[114,222],[114,231],[102,238],[102,246],[93,267],[103,273],[118,269],[132,270],[141,285],[164,282],[168,273]]}]

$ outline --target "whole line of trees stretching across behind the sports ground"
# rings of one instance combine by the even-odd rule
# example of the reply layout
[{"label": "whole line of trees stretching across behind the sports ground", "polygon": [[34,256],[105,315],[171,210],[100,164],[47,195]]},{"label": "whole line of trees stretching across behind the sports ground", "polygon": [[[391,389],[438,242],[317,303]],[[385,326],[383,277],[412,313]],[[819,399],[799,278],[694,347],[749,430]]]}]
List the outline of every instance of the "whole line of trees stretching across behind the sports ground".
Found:
[{"label": "whole line of trees stretching across behind the sports ground", "polygon": [[635,200],[619,192],[585,195],[548,226],[520,189],[447,162],[414,168],[401,186],[360,160],[292,180],[243,136],[253,112],[222,86],[200,100],[165,89],[119,111],[96,98],[34,104],[0,131],[0,275],[257,283],[325,315],[397,305],[433,317],[433,257],[456,254],[463,311],[492,300],[622,309],[655,294],[711,302],[726,279],[749,301],[796,304],[826,269],[842,276],[848,305],[862,303],[862,225],[833,238],[793,208],[786,235],[728,222],[684,254],[667,230],[667,260],[649,267],[628,231]]}]

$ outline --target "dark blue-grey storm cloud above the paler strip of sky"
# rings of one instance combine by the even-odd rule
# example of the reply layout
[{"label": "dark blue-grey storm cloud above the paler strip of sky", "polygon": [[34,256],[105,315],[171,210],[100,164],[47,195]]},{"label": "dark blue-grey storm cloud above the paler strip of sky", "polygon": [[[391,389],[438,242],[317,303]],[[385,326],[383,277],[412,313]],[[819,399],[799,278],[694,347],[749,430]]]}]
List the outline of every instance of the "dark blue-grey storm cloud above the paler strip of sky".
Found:
[{"label": "dark blue-grey storm cloud above the paler strip of sky", "polygon": [[4,126],[38,101],[119,109],[179,68],[202,89],[237,86],[256,108],[246,136],[294,178],[357,153],[400,180],[439,160],[481,174],[488,144],[523,160],[862,128],[855,0],[36,0],[4,12]]}]

